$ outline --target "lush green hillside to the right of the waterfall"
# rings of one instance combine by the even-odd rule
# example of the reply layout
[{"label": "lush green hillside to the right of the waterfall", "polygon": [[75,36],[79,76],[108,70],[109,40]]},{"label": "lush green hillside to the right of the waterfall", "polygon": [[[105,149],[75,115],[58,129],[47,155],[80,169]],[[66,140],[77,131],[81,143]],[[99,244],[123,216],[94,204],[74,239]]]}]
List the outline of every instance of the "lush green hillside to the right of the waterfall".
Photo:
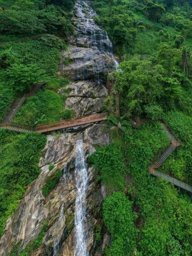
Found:
[{"label": "lush green hillside to the right of the waterfall", "polygon": [[[121,115],[166,120],[182,144],[163,168],[192,181],[191,2],[153,2],[91,1],[99,14],[95,20],[122,60],[121,70],[111,76]],[[114,192],[103,209],[113,238],[106,255],[191,255],[190,195],[148,174],[148,164],[168,141],[161,126],[154,122],[130,136],[118,134],[113,131],[114,144],[90,158],[109,194]]]}]

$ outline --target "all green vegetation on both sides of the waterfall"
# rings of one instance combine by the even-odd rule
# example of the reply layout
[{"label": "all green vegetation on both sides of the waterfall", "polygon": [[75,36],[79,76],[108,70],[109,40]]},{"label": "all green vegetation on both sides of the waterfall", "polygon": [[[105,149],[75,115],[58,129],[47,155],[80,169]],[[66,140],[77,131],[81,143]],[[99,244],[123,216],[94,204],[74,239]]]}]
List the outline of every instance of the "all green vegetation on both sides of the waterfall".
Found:
[{"label": "all green vegetation on both sides of the waterfall", "polygon": [[[114,96],[105,101],[113,143],[88,159],[107,189],[102,215],[112,242],[105,255],[192,255],[190,195],[148,173],[153,156],[169,141],[156,121],[161,119],[182,141],[163,168],[192,182],[192,2],[91,0],[91,4],[99,14],[94,20],[106,29],[122,61],[111,76],[121,117],[113,116]],[[66,95],[57,94],[69,80],[56,78],[56,73],[59,52],[67,49],[60,37],[74,33],[70,21],[74,1],[0,0],[0,6],[7,7],[0,7],[0,116],[16,94],[31,90],[35,82],[46,82],[27,99],[14,122],[37,125],[73,117],[70,110],[63,110]],[[34,40],[15,42],[36,35]],[[130,116],[154,121],[135,130]],[[0,129],[0,235],[27,185],[39,175],[45,142],[41,134]],[[44,196],[60,177],[57,171],[46,180]],[[45,223],[21,255],[39,247],[46,229]],[[99,241],[101,227],[95,232]],[[17,251],[13,248],[11,255]]]}]

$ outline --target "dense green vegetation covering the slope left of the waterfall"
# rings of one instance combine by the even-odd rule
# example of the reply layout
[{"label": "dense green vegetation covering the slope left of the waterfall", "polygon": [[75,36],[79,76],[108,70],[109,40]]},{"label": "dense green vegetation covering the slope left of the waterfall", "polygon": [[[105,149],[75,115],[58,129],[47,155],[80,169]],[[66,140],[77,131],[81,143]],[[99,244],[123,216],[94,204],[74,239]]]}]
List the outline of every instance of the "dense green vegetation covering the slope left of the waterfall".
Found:
[{"label": "dense green vegetation covering the slope left of the waterfall", "polygon": [[[14,122],[33,126],[73,116],[63,111],[65,95],[57,94],[69,80],[56,78],[60,50],[67,48],[60,37],[74,32],[73,6],[71,0],[0,1],[0,116],[16,94],[22,96],[37,82],[46,82],[46,86],[28,98]],[[38,37],[16,41],[34,36]],[[27,185],[40,173],[45,143],[46,136],[41,134],[0,129],[0,236]]]}]

